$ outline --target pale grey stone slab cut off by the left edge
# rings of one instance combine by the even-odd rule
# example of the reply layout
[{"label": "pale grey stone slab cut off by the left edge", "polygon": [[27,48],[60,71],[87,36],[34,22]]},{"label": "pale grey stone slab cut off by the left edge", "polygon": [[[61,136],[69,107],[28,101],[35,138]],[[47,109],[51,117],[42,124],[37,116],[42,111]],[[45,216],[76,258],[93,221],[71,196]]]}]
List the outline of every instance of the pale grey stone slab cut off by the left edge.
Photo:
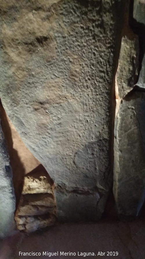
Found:
[{"label": "pale grey stone slab cut off by the left edge", "polygon": [[8,236],[15,228],[15,196],[12,184],[12,169],[3,131],[0,124],[0,238]]}]

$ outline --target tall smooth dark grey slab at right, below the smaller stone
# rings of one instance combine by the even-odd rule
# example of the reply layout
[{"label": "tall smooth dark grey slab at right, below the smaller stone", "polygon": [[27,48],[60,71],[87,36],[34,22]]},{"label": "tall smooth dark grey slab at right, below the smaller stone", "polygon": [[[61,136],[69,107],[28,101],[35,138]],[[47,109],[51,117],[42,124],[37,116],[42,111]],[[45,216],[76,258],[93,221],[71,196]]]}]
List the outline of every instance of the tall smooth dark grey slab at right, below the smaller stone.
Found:
[{"label": "tall smooth dark grey slab at right, below the smaller stone", "polygon": [[115,119],[114,185],[117,210],[137,216],[145,199],[145,93],[133,92]]}]

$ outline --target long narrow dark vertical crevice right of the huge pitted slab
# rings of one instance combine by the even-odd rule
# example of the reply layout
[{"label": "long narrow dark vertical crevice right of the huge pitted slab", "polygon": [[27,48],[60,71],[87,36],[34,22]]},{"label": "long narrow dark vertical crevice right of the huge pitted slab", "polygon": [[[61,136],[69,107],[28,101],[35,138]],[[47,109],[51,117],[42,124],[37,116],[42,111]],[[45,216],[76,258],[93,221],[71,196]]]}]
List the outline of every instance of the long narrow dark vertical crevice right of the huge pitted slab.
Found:
[{"label": "long narrow dark vertical crevice right of the huge pitted slab", "polygon": [[[114,64],[112,68],[112,82],[110,87],[110,138],[109,138],[109,161],[110,161],[110,193],[106,202],[104,213],[101,220],[118,220],[115,199],[113,195],[113,174],[114,174],[114,128],[115,128],[115,111],[116,111],[116,96],[115,96],[115,76],[117,73],[119,55],[121,49],[122,35],[124,24],[126,22],[126,9],[128,8],[128,0],[114,4],[114,18],[115,18],[115,48],[114,48]],[[114,215],[113,215],[114,213]]]}]

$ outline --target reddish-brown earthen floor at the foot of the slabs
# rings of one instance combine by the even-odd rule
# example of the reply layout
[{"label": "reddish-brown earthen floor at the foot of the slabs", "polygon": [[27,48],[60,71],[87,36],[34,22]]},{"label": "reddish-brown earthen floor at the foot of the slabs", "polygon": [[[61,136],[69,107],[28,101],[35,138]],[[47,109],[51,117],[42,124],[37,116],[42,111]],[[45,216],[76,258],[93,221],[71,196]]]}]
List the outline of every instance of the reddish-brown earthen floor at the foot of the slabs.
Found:
[{"label": "reddish-brown earthen floor at the foot of the slabs", "polygon": [[[62,224],[26,235],[17,233],[0,243],[0,259],[144,259],[145,223]],[[48,253],[57,253],[58,256]],[[73,252],[74,256],[60,256],[60,252]],[[19,252],[39,252],[40,256],[19,256]],[[43,252],[46,255],[43,255]],[[81,256],[81,253],[94,253]],[[98,253],[103,253],[100,256]],[[107,252],[118,255],[107,256]],[[79,253],[79,254],[78,254]],[[113,253],[114,254],[114,253]]]}]

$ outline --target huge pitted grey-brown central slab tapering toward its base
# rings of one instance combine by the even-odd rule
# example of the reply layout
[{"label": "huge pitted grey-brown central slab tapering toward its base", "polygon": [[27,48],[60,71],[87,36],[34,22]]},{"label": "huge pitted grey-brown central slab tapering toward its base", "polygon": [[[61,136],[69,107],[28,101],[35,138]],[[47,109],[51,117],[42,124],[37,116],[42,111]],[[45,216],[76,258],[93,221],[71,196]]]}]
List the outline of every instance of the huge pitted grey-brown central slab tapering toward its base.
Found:
[{"label": "huge pitted grey-brown central slab tapering toward its base", "polygon": [[[96,220],[110,170],[116,24],[124,1],[0,1],[0,96],[55,183],[61,220]],[[85,209],[87,208],[87,209]]]}]

